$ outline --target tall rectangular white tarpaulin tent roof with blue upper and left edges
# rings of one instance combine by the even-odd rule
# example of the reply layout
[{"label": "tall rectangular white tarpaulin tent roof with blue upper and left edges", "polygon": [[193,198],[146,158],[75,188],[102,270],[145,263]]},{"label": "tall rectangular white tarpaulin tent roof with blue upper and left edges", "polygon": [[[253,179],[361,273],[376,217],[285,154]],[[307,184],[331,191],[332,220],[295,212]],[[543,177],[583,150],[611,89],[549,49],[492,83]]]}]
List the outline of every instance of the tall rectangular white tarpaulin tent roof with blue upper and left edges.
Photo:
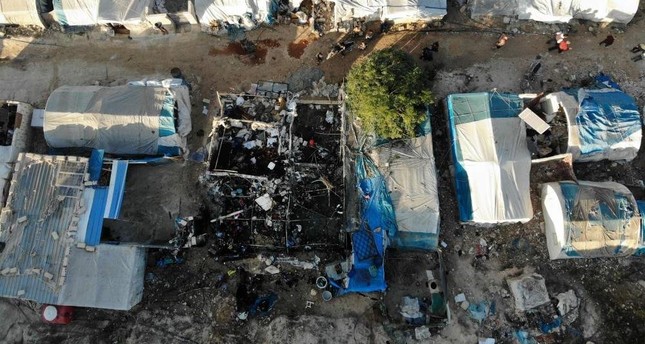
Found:
[{"label": "tall rectangular white tarpaulin tent roof with blue upper and left edges", "polygon": [[527,222],[531,153],[523,102],[500,93],[452,94],[447,100],[455,189],[462,222]]}]

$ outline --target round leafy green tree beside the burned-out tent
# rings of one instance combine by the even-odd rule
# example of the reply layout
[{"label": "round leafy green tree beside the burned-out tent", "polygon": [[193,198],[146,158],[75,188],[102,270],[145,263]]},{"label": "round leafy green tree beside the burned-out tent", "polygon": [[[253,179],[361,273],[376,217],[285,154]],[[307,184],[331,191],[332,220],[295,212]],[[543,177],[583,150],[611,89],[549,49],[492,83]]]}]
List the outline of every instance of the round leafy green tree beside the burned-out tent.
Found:
[{"label": "round leafy green tree beside the burned-out tent", "polygon": [[349,71],[347,103],[366,131],[386,139],[413,137],[434,102],[428,80],[410,55],[381,50]]}]

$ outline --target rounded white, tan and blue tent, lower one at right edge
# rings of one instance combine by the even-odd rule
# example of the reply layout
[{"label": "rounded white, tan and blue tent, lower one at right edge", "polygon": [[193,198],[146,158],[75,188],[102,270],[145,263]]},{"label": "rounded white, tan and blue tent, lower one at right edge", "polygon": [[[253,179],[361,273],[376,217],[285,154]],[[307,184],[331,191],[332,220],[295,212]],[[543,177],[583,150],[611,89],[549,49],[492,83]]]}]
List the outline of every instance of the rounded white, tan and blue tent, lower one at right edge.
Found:
[{"label": "rounded white, tan and blue tent, lower one at right edge", "polygon": [[621,184],[547,183],[542,210],[551,259],[627,256],[639,247],[641,215]]}]

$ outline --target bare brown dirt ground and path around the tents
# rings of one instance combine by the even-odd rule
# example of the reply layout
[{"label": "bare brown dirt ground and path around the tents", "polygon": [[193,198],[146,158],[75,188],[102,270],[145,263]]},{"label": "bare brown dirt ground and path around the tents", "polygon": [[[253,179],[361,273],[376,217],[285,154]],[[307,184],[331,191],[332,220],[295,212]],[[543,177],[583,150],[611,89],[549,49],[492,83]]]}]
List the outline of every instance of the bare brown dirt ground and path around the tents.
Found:
[{"label": "bare brown dirt ground and path around the tents", "polygon": [[[327,82],[342,82],[349,68],[373,50],[398,47],[419,56],[425,46],[440,43],[432,62],[419,62],[434,75],[432,91],[437,100],[449,93],[497,89],[522,91],[521,80],[537,55],[542,56],[543,89],[575,86],[580,80],[604,72],[645,106],[645,61],[632,62],[629,50],[645,42],[644,11],[627,27],[573,23],[569,38],[573,50],[549,52],[547,41],[566,25],[526,22],[481,23],[468,20],[450,8],[443,26],[423,31],[379,35],[364,51],[354,50],[318,65],[340,39],[338,33],[310,35],[296,26],[260,28],[247,34],[258,44],[255,58],[240,56],[226,38],[191,32],[141,39],[109,38],[100,32],[61,34],[45,32],[37,38],[12,36],[0,40],[0,99],[14,99],[43,107],[49,93],[63,85],[120,85],[130,80],[167,78],[172,67],[182,69],[193,84],[193,133],[189,146],[195,151],[207,143],[209,116],[202,115],[202,99],[215,99],[216,91],[248,90],[259,80],[285,81],[308,67],[317,67]],[[516,31],[514,31],[514,29]],[[511,32],[508,44],[494,49],[500,32]],[[599,42],[612,32],[615,43]],[[304,42],[306,41],[306,43]],[[538,90],[535,90],[538,91]],[[210,114],[212,116],[212,113]],[[645,266],[639,258],[549,261],[542,231],[542,213],[526,225],[492,228],[462,226],[457,222],[456,200],[449,173],[449,142],[445,117],[433,118],[435,158],[439,173],[441,240],[448,272],[448,300],[452,322],[431,329],[427,343],[476,343],[492,337],[512,343],[513,330],[537,320],[517,314],[505,278],[519,271],[535,271],[546,279],[553,298],[569,289],[581,300],[580,316],[540,343],[638,343],[645,330]],[[206,133],[206,134],[204,134]],[[140,241],[167,240],[172,218],[197,214],[200,194],[197,178],[202,163],[175,162],[163,166],[136,166],[128,174],[123,216],[138,231]],[[576,164],[580,180],[615,180],[638,186],[645,179],[645,154],[627,163]],[[642,184],[641,184],[642,185]],[[537,190],[532,190],[536,198]],[[642,198],[641,198],[642,199]],[[490,249],[485,258],[473,249],[484,239]],[[316,252],[320,258],[324,252]],[[397,253],[405,256],[405,253]],[[215,262],[206,248],[187,252],[186,263],[155,266],[152,252],[146,270],[142,302],[129,312],[79,309],[71,325],[51,326],[39,321],[37,305],[0,300],[0,342],[3,343],[406,343],[415,342],[413,328],[395,326],[399,321],[381,309],[386,295],[348,295],[323,302],[313,295],[319,272],[284,268],[281,279],[260,281],[259,291],[281,290],[275,309],[266,317],[236,319],[236,290],[244,272],[259,271],[261,262]],[[405,259],[405,258],[402,258]],[[410,264],[415,264],[411,260]],[[387,276],[396,285],[407,276]],[[409,287],[409,286],[408,286]],[[425,288],[420,286],[419,288]],[[395,293],[395,291],[392,291]],[[452,302],[464,293],[471,302],[497,305],[495,314],[481,323]],[[306,301],[314,301],[305,308]],[[390,307],[391,310],[392,307]],[[394,312],[396,313],[396,312]]]}]

